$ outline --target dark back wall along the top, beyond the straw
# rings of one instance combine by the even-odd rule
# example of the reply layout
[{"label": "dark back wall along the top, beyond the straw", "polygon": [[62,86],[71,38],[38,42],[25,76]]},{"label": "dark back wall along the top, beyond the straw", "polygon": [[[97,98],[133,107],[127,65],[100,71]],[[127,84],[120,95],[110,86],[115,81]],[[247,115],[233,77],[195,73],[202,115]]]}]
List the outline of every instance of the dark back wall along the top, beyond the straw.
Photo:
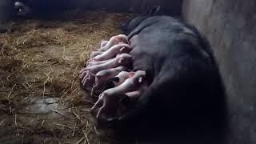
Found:
[{"label": "dark back wall along the top, beyond the straw", "polygon": [[111,12],[144,13],[152,6],[161,6],[166,14],[180,15],[182,0],[1,0],[0,22],[10,19],[14,13],[14,2],[23,2],[30,6],[31,14],[49,16],[73,8],[85,10],[105,9]]}]

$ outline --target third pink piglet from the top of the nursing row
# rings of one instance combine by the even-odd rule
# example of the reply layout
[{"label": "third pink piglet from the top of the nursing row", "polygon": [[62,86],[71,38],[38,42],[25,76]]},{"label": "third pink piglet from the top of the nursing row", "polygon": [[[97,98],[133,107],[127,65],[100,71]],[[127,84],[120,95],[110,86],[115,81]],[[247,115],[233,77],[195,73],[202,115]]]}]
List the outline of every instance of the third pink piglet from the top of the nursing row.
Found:
[{"label": "third pink piglet from the top of the nursing row", "polygon": [[[118,66],[131,66],[132,56],[130,54],[121,54],[113,58],[110,62],[102,63],[99,65],[88,66],[82,70],[82,86],[85,87],[87,82],[94,82],[94,76],[99,71],[112,69]],[[84,76],[86,74],[86,76]]]}]

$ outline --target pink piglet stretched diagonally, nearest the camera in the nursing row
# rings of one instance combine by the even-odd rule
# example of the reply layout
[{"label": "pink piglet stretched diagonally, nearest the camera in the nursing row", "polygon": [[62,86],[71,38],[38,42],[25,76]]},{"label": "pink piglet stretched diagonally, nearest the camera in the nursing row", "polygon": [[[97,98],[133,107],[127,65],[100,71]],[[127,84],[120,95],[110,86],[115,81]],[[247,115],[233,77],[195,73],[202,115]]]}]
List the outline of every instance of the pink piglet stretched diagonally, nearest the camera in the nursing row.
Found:
[{"label": "pink piglet stretched diagonally, nearest the camera in the nursing row", "polygon": [[92,107],[92,110],[100,107],[98,110],[97,118],[99,118],[104,113],[106,114],[116,110],[118,107],[118,101],[121,99],[121,96],[130,91],[136,90],[139,86],[142,85],[142,78],[145,77],[146,72],[138,70],[135,72],[133,77],[126,79],[126,81],[123,82],[120,86],[105,90],[102,94],[100,94],[98,101]]}]

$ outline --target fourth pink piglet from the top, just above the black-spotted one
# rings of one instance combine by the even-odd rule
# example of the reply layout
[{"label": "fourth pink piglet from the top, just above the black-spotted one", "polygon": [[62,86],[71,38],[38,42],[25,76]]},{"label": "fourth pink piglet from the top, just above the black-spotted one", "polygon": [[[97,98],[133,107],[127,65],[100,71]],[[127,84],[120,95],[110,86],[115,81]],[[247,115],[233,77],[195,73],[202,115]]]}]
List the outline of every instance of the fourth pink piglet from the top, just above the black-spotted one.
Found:
[{"label": "fourth pink piglet from the top, just above the black-spotted one", "polygon": [[90,95],[94,95],[94,90],[101,89],[102,86],[110,79],[117,76],[121,71],[126,70],[125,66],[118,66],[109,70],[102,70],[95,75],[95,83]]}]

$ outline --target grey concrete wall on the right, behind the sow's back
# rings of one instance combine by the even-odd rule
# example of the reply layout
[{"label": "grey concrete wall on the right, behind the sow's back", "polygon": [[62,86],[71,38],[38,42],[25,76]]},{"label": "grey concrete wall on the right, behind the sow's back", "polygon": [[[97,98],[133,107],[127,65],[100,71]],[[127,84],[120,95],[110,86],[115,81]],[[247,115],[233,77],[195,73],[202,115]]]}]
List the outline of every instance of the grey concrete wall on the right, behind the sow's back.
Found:
[{"label": "grey concrete wall on the right, behind the sow's back", "polygon": [[184,0],[183,15],[214,48],[226,86],[230,144],[256,143],[256,1]]}]

